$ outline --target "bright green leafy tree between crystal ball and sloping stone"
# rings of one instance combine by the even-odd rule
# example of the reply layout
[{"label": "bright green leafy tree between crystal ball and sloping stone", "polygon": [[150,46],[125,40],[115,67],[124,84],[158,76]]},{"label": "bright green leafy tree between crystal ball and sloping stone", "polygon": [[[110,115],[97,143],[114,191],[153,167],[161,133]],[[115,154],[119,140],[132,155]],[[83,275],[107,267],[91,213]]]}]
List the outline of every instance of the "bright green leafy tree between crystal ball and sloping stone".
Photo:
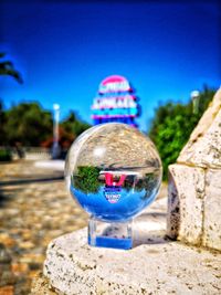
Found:
[{"label": "bright green leafy tree between crystal ball and sloping stone", "polygon": [[149,137],[160,154],[165,179],[167,178],[168,165],[176,161],[214,93],[214,89],[209,88],[207,85],[203,86],[197,114],[192,113],[191,101],[187,104],[170,102],[156,109],[149,129]]}]

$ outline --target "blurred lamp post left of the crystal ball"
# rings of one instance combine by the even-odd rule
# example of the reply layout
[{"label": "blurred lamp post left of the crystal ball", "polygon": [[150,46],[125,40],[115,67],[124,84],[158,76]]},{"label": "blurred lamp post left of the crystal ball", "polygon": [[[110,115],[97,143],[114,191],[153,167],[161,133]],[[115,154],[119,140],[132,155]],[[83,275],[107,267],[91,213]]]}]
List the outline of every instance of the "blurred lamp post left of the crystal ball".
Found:
[{"label": "blurred lamp post left of the crystal ball", "polygon": [[53,120],[53,147],[52,147],[52,159],[57,159],[61,152],[59,146],[59,119],[60,119],[60,105],[53,104],[54,120]]}]

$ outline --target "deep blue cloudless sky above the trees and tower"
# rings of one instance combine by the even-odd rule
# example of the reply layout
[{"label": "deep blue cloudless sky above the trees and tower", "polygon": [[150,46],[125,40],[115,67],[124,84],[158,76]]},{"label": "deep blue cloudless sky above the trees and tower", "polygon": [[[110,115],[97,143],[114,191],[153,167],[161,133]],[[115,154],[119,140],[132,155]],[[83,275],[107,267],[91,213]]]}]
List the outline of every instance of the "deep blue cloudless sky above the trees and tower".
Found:
[{"label": "deep blue cloudless sky above the trees and tower", "polygon": [[38,101],[91,120],[98,84],[127,77],[140,98],[143,130],[159,102],[187,102],[221,85],[219,1],[1,1],[0,51],[24,84],[0,78],[6,107]]}]

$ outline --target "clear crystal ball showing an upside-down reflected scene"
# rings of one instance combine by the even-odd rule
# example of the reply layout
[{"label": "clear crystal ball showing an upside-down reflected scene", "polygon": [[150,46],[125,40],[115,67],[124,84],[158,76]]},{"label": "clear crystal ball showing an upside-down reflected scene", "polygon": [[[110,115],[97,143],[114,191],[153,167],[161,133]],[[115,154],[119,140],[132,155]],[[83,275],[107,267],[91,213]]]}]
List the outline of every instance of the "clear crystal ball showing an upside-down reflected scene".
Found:
[{"label": "clear crystal ball showing an upside-down reflected scene", "polygon": [[161,161],[154,143],[120,123],[96,125],[71,146],[65,161],[67,190],[93,218],[124,222],[156,198]]}]

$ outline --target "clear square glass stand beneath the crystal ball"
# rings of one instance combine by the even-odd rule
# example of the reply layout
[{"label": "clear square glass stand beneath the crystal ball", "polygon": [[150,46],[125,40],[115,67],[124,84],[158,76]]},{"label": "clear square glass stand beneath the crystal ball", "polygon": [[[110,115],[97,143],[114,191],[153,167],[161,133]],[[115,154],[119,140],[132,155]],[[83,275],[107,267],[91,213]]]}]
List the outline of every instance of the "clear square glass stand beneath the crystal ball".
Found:
[{"label": "clear square glass stand beneath the crystal ball", "polygon": [[133,220],[105,222],[91,217],[88,221],[88,244],[113,249],[131,249]]}]

